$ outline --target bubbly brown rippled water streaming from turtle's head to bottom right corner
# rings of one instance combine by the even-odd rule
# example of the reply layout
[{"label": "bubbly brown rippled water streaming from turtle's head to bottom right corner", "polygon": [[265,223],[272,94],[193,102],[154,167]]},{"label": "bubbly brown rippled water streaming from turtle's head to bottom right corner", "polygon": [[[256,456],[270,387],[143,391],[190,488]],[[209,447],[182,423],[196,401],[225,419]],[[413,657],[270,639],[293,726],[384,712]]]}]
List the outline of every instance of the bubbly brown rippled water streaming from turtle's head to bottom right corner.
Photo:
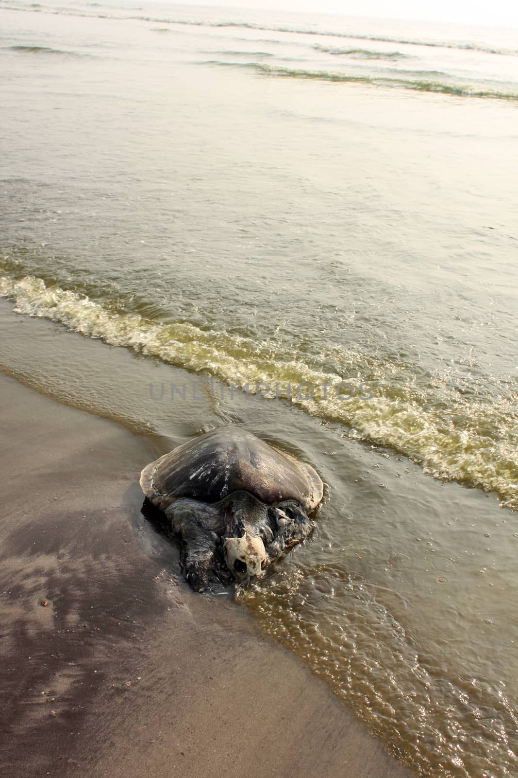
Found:
[{"label": "bubbly brown rippled water streaming from turtle's head to bottom right corner", "polygon": [[238,596],[422,776],[516,776],[518,717],[503,689],[454,677],[420,654],[363,580],[334,564],[304,569],[290,559]]}]

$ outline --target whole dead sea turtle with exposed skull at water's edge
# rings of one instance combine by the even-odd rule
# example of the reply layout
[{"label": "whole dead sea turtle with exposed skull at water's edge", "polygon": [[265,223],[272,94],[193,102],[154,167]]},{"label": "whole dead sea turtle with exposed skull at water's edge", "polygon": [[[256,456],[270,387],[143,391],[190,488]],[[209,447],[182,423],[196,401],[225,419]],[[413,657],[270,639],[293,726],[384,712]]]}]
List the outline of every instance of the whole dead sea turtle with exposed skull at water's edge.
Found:
[{"label": "whole dead sea turtle with exposed skull at water's edge", "polygon": [[322,499],[309,464],[236,427],[183,443],[141,472],[141,487],[183,538],[193,589],[247,581],[311,533]]}]

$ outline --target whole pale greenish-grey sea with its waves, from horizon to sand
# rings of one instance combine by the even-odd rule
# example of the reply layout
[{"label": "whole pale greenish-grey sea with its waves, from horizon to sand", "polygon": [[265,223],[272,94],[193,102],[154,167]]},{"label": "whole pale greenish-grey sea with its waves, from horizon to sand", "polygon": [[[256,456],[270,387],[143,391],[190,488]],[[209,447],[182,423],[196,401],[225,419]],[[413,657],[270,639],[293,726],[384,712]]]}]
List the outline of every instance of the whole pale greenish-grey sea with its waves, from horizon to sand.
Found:
[{"label": "whole pale greenish-grey sea with its waves, from horizon to sand", "polygon": [[3,369],[315,464],[244,605],[422,774],[516,774],[518,33],[123,5],[0,6]]}]

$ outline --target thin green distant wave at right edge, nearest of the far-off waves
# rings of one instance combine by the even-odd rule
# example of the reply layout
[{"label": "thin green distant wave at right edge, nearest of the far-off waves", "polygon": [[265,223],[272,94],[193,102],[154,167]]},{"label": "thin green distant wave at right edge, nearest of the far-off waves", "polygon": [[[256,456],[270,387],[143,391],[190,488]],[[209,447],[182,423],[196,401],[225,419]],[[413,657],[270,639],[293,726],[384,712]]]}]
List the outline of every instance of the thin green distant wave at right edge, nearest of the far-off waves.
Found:
[{"label": "thin green distant wave at right edge, nearest of the far-off waves", "polygon": [[[367,84],[370,86],[385,86],[394,89],[412,89],[414,92],[433,92],[457,97],[481,97],[490,100],[518,100],[518,93],[503,92],[498,89],[480,89],[478,86],[461,86],[460,84],[432,81],[428,79],[407,79],[405,71],[398,78],[385,75],[359,75],[356,73],[339,73],[328,70],[303,70],[301,68],[283,68],[278,65],[263,65],[262,62],[223,62],[209,60],[207,65],[226,65],[235,68],[253,68],[259,73],[284,79],[308,79],[316,81],[334,81],[343,83]],[[412,71],[410,71],[412,72]],[[444,75],[438,71],[416,71],[415,75]]]}]

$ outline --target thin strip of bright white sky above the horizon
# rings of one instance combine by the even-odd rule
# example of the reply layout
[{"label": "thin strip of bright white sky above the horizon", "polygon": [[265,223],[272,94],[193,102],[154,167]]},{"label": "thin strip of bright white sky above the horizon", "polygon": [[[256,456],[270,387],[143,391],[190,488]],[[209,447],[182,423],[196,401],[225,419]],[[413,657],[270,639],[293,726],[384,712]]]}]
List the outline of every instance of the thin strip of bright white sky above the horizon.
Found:
[{"label": "thin strip of bright white sky above the horizon", "polygon": [[[182,2],[182,0],[180,0]],[[278,9],[423,19],[433,22],[518,27],[516,0],[183,0],[186,5],[228,5],[235,8]]]}]

